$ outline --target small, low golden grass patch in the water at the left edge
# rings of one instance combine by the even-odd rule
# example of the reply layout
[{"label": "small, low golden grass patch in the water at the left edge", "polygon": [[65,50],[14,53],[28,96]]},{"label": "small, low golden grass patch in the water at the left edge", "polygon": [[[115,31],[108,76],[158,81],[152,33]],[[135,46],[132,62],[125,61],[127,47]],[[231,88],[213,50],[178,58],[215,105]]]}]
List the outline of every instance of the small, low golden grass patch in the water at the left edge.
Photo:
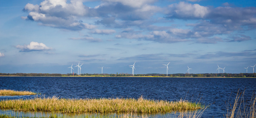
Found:
[{"label": "small, low golden grass patch in the water at the left edge", "polygon": [[31,91],[15,91],[0,89],[0,95],[36,95],[37,93]]}]

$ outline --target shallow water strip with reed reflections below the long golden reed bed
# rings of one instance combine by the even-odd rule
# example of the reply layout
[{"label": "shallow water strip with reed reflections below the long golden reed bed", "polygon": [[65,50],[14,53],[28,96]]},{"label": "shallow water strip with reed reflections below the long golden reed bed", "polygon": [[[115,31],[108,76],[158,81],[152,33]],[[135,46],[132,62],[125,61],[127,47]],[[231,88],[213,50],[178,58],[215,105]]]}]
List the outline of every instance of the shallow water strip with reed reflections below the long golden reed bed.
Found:
[{"label": "shallow water strip with reed reflections below the long golden reed bed", "polygon": [[189,116],[199,116],[202,110],[198,111],[172,111],[169,113],[141,114],[141,113],[58,113],[58,112],[31,112],[13,111],[0,109],[0,114],[15,117],[50,117],[58,116],[64,118],[188,118]]}]

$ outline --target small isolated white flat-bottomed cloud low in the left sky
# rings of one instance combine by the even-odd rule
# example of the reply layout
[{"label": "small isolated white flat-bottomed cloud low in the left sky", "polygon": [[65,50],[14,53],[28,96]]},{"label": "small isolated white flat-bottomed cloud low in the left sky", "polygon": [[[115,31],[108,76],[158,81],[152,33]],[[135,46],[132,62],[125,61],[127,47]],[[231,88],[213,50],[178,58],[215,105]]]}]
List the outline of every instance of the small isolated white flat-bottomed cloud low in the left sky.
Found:
[{"label": "small isolated white flat-bottomed cloud low in the left sky", "polygon": [[17,49],[20,49],[20,52],[30,52],[30,51],[44,51],[44,50],[52,50],[53,48],[47,47],[43,43],[30,42],[29,45],[17,45]]}]

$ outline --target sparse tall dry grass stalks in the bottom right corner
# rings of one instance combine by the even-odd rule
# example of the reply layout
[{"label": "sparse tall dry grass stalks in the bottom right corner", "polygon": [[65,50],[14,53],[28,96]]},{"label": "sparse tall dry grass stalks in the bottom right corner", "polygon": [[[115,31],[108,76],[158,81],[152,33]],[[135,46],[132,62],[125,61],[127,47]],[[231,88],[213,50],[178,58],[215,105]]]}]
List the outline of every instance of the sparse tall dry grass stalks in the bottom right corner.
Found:
[{"label": "sparse tall dry grass stalks in the bottom right corner", "polygon": [[240,92],[238,89],[234,104],[228,101],[226,104],[226,118],[256,118],[256,95],[253,91],[250,99],[245,99],[245,90]]}]

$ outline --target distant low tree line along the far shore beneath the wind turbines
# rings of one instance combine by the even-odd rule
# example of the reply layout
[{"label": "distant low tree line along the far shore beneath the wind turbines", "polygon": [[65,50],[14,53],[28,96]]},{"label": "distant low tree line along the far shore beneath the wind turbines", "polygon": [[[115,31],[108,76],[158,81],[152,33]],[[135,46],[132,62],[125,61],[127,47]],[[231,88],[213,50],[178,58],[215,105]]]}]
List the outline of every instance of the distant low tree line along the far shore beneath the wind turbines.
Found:
[{"label": "distant low tree line along the far shore beneath the wind turbines", "polygon": [[[80,74],[81,76],[110,76],[110,77],[117,77],[117,76],[132,76],[132,74],[128,73],[116,73],[116,74],[89,74],[84,73]],[[0,73],[0,76],[73,76],[73,74],[49,74],[49,73]],[[78,76],[74,73],[74,76]],[[165,77],[166,74],[134,74],[134,76],[162,76]],[[184,74],[184,73],[177,73],[177,74],[168,74],[168,77],[256,77],[256,73],[202,73],[202,74]]]}]

